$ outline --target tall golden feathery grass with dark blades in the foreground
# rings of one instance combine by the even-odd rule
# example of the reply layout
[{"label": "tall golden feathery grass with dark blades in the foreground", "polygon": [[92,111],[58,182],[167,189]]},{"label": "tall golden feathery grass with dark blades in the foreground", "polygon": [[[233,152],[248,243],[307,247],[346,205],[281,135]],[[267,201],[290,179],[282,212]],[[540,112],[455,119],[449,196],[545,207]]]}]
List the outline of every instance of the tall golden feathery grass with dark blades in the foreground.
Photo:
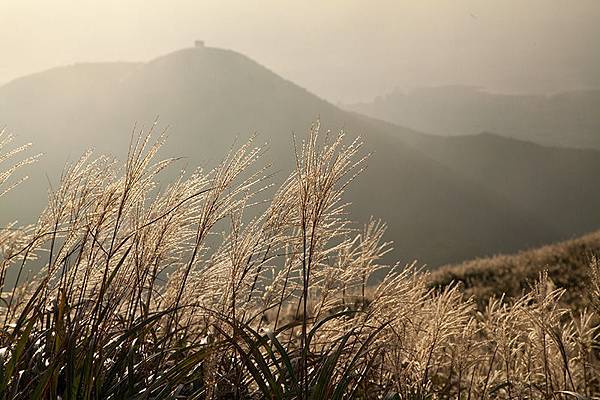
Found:
[{"label": "tall golden feathery grass with dark blades in the foreground", "polygon": [[[162,137],[150,138],[132,140],[122,166],[86,154],[36,224],[0,230],[1,397],[558,399],[600,390],[596,314],[561,306],[565,290],[547,274],[478,311],[459,286],[432,289],[413,266],[380,265],[384,225],[357,230],[343,203],[365,162],[359,142],[316,124],[277,189],[252,142],[163,187],[175,160],[155,161]],[[0,184],[10,189],[31,161]],[[32,265],[42,268],[29,276]]]}]

